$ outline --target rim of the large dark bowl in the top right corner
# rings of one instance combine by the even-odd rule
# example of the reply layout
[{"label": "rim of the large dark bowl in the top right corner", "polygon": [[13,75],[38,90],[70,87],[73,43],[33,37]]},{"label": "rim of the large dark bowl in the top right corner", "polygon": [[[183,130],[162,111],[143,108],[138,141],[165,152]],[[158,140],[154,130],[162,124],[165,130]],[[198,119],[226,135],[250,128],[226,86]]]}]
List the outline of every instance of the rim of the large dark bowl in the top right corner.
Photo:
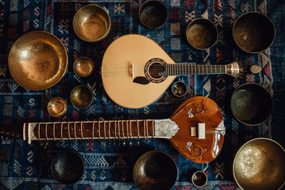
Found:
[{"label": "rim of the large dark bowl in the top right corner", "polygon": [[[267,19],[267,20],[269,21],[269,23],[271,23],[271,25],[273,26],[273,30],[274,30],[273,39],[272,39],[270,45],[269,45],[268,47],[264,48],[264,49],[261,50],[261,51],[246,51],[246,50],[244,50],[244,48],[241,48],[239,45],[237,45],[237,41],[235,41],[235,39],[234,39],[234,26],[236,26],[237,21],[239,21],[239,19],[241,19],[244,15],[247,15],[247,14],[259,14],[259,16],[264,16],[264,18]],[[237,18],[236,21],[234,21],[234,24],[232,25],[232,38],[234,39],[234,43],[235,43],[235,44],[237,45],[237,47],[239,47],[242,51],[247,52],[247,53],[260,53],[260,52],[262,52],[262,51],[265,51],[266,49],[268,49],[268,48],[270,48],[270,47],[272,46],[272,44],[273,44],[274,41],[275,41],[275,37],[276,37],[276,28],[275,28],[275,26],[274,26],[273,21],[271,21],[271,19],[269,18],[269,16],[267,16],[267,15],[265,15],[265,14],[262,14],[262,13],[259,13],[259,12],[257,12],[257,11],[249,11],[249,12],[247,12],[247,13],[242,14],[241,16],[239,16],[239,18]]]}]

